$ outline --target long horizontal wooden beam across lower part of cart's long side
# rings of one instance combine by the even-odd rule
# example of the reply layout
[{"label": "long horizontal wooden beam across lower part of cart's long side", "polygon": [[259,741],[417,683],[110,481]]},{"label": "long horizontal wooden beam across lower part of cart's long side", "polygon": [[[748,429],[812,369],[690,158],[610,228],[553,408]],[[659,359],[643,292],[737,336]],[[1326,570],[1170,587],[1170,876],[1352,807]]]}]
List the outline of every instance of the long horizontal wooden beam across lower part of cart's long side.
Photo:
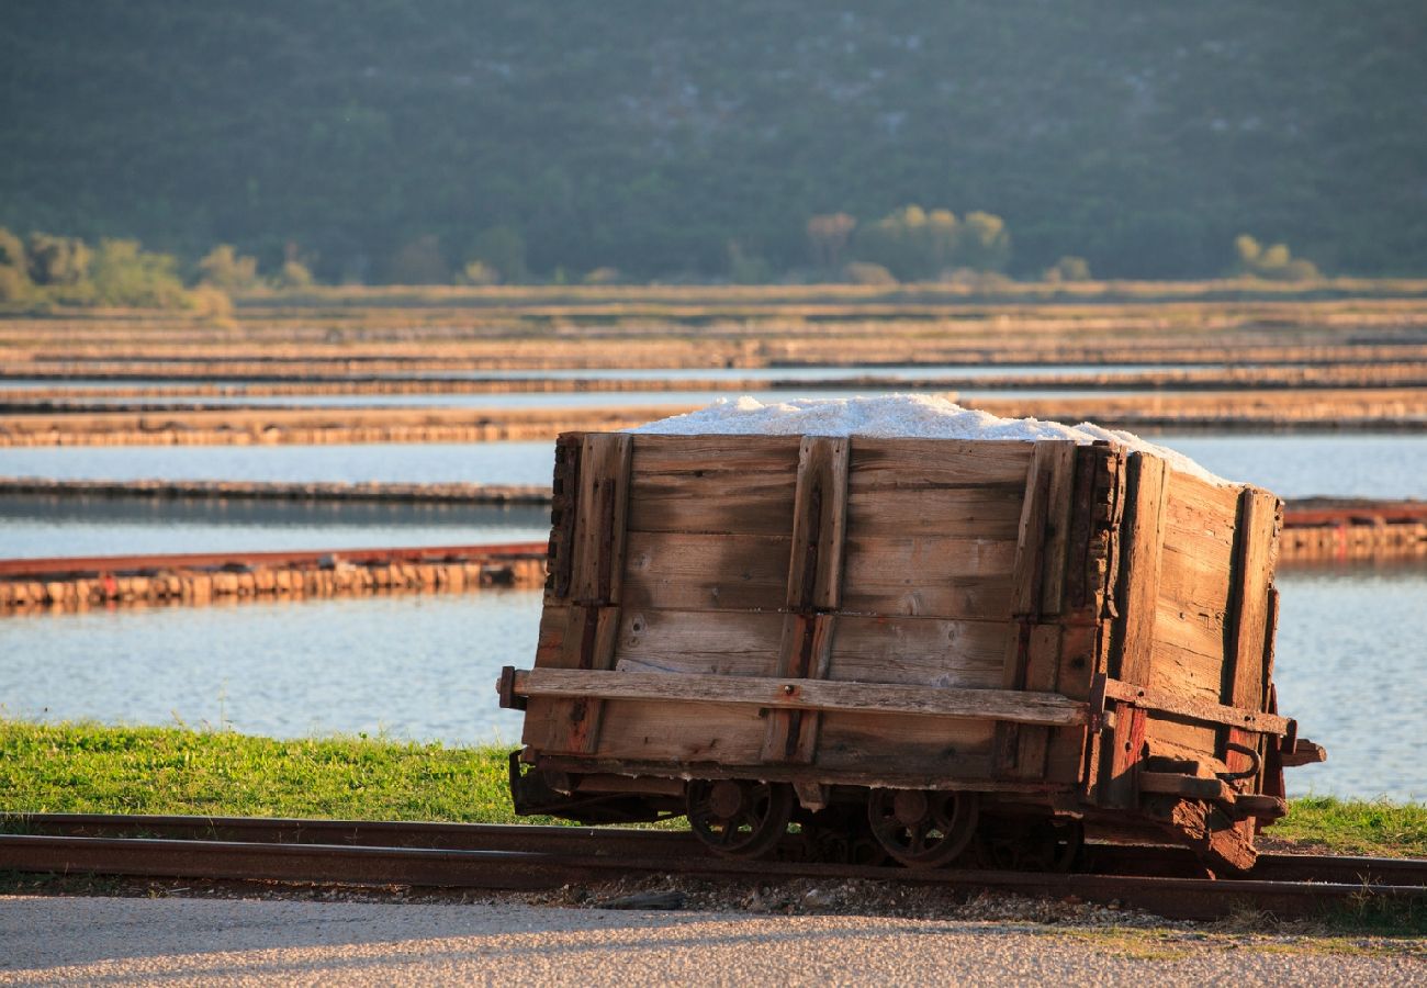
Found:
[{"label": "long horizontal wooden beam across lower part of cart's long side", "polygon": [[1085,724],[1086,704],[1056,692],[928,690],[879,682],[832,682],[608,670],[522,670],[521,697],[601,697],[676,702],[752,704],[768,710],[825,710],[865,714],[1000,720],[1017,724]]}]

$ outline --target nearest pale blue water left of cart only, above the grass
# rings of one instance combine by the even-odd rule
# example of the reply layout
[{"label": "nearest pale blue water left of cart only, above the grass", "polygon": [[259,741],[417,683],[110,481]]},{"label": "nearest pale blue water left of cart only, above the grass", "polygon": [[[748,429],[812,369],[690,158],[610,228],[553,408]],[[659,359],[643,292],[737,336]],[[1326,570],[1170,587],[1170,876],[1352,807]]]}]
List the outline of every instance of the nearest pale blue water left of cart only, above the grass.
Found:
[{"label": "nearest pale blue water left of cart only, above the grass", "polygon": [[495,680],[534,661],[539,605],[485,590],[4,618],[0,715],[515,741]]}]

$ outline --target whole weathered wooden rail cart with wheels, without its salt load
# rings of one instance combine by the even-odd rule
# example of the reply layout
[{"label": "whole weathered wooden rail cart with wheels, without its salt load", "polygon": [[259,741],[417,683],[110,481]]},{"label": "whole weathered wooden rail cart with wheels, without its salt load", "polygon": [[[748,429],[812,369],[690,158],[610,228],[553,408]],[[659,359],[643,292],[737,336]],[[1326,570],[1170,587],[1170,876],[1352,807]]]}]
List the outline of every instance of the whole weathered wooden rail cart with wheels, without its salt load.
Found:
[{"label": "whole weathered wooden rail cart with wheels, without its salt load", "polygon": [[574,433],[554,493],[535,668],[499,682],[519,812],[1244,869],[1323,757],[1276,711],[1263,490],[1110,444]]}]

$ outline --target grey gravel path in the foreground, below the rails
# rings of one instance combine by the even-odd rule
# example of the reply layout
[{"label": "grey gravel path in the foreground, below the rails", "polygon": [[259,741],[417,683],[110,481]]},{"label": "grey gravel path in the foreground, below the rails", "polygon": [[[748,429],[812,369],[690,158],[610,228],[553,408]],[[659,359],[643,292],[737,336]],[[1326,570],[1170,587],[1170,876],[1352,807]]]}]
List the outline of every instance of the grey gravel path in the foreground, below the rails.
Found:
[{"label": "grey gravel path in the foreground, below the rails", "polygon": [[0,984],[1424,984],[1421,941],[885,917],[0,898]]}]

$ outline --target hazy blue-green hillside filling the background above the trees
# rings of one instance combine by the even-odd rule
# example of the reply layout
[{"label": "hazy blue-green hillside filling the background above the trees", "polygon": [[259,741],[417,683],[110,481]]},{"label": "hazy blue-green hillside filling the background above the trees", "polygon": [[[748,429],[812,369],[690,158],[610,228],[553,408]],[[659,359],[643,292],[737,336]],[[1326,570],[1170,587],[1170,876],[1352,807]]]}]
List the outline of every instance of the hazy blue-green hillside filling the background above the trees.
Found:
[{"label": "hazy blue-green hillside filling the background above the trees", "polygon": [[9,0],[0,224],[719,276],[920,203],[1005,217],[1022,273],[1216,274],[1249,231],[1423,274],[1424,51],[1423,0]]}]

